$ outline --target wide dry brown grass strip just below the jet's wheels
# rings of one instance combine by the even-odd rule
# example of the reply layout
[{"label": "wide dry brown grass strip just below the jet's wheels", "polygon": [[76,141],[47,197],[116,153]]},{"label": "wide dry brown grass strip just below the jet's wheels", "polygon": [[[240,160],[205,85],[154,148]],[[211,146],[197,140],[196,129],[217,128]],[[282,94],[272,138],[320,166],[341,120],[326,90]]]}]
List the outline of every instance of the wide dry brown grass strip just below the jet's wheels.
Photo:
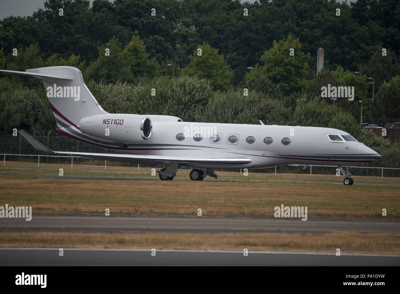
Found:
[{"label": "wide dry brown grass strip just below the jet's wheels", "polygon": [[252,182],[124,181],[1,177],[0,203],[33,211],[272,215],[274,207],[308,206],[308,216],[398,218],[398,188]]}]

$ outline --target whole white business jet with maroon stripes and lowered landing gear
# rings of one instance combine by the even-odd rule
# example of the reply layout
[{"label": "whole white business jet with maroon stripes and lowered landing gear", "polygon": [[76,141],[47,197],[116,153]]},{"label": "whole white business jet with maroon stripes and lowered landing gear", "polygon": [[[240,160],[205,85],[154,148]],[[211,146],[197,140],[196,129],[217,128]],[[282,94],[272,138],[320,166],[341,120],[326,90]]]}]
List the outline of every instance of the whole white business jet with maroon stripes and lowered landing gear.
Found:
[{"label": "whole white business jet with maroon stripes and lowered landing gear", "polygon": [[[103,110],[84,84],[82,72],[70,66],[34,68],[26,72],[43,81],[58,134],[121,154],[52,151],[24,131],[42,152],[156,166],[161,180],[172,180],[180,166],[193,167],[191,180],[217,178],[214,168],[270,168],[289,164],[337,165],[352,185],[349,164],[381,156],[350,134],[303,126],[183,122],[175,116],[111,114]],[[154,99],[157,99],[154,97]],[[234,103],[234,102],[232,102]]]}]

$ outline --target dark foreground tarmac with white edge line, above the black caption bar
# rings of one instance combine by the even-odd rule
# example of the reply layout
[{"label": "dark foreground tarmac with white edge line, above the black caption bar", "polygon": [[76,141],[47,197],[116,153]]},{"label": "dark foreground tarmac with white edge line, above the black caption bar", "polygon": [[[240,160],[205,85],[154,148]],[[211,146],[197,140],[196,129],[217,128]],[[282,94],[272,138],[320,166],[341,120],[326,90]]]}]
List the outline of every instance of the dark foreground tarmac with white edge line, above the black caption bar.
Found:
[{"label": "dark foreground tarmac with white edge line, above the black caption bar", "polygon": [[400,256],[59,248],[0,248],[0,266],[399,266]]}]

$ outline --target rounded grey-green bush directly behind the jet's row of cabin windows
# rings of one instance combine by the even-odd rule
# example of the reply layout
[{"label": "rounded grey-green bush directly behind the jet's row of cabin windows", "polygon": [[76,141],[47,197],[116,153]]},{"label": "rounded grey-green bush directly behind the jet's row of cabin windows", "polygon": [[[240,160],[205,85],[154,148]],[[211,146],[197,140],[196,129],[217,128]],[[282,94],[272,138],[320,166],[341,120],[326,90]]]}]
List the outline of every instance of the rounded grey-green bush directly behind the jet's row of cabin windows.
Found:
[{"label": "rounded grey-green bush directly behind the jet's row of cabin windows", "polygon": [[270,99],[260,92],[241,91],[216,92],[208,104],[196,112],[198,122],[229,124],[286,124],[290,110],[279,100]]}]

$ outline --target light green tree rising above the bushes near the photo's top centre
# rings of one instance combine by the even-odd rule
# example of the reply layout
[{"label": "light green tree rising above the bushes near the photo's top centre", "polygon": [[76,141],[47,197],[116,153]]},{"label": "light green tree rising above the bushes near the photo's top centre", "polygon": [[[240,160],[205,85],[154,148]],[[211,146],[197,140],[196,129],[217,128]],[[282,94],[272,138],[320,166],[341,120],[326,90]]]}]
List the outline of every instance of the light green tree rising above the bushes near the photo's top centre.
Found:
[{"label": "light green tree rising above the bushes near the photo's top centre", "polygon": [[[202,50],[202,55],[198,56],[198,49]],[[233,72],[230,66],[224,61],[224,56],[218,54],[218,49],[212,48],[205,42],[197,46],[190,56],[189,65],[182,70],[182,75],[210,80],[214,90],[226,91],[230,85]]]}]

